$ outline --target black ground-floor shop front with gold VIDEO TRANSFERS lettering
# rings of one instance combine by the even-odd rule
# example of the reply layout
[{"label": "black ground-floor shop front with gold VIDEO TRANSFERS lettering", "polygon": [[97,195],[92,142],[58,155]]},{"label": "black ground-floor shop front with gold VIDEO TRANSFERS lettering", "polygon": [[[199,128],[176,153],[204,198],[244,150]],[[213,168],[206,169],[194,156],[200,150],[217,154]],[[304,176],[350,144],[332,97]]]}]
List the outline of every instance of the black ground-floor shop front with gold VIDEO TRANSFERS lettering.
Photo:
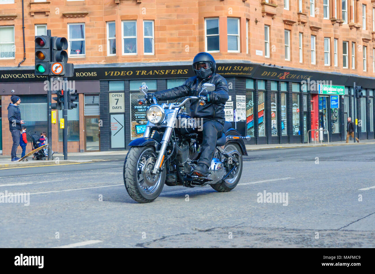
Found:
[{"label": "black ground-floor shop front with gold VIDEO TRANSFERS lettering", "polygon": [[[360,139],[374,139],[374,94],[371,89],[374,78],[220,62],[216,72],[226,78],[229,87],[225,118],[242,135],[252,137],[246,141],[248,144],[307,143],[320,141],[320,138],[326,142],[328,136],[331,142],[344,141],[347,117],[354,116],[354,81],[362,84],[365,90],[365,97],[357,99]],[[20,71],[0,71],[0,74],[4,80],[0,90],[5,90],[1,100],[2,116],[5,117],[4,106],[9,104],[12,94],[25,96],[23,103],[29,105],[24,106],[23,112],[28,113],[32,120],[28,126],[34,131],[45,129],[45,79],[34,78],[33,71],[24,71],[23,74]],[[187,63],[143,67],[134,64],[95,68],[77,66],[75,76],[68,79],[75,81],[80,93],[78,108],[68,111],[70,151],[127,149],[132,139],[143,135],[147,123],[145,107],[137,104],[137,100],[143,98],[139,86],[146,84],[149,92],[154,92],[180,86],[191,76],[191,65]],[[29,107],[30,104],[34,108]],[[189,103],[184,108],[188,110]],[[53,149],[61,151],[62,131],[57,126],[53,128],[56,138],[53,141],[58,145]],[[308,134],[309,130],[315,129],[324,132]],[[3,144],[9,143],[4,123],[2,138]]]}]

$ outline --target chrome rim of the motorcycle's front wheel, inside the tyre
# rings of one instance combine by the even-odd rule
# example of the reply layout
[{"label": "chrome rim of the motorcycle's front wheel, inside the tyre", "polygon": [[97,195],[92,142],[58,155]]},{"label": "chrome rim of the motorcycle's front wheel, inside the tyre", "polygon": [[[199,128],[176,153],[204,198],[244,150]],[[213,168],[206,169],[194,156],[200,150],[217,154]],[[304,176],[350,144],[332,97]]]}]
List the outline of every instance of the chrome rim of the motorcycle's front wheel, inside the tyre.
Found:
[{"label": "chrome rim of the motorcycle's front wheel, inside the tyre", "polygon": [[154,194],[160,186],[161,172],[151,173],[156,162],[156,154],[152,148],[143,151],[137,163],[137,183],[139,189],[147,195]]}]

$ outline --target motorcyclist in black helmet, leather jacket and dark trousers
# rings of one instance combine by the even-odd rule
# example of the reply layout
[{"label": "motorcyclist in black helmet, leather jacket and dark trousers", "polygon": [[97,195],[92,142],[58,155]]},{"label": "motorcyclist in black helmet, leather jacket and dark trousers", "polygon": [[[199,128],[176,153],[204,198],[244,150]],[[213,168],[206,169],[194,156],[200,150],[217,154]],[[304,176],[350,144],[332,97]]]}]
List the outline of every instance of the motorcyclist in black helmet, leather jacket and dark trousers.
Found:
[{"label": "motorcyclist in black helmet, leather jacket and dark trousers", "polygon": [[207,96],[205,105],[198,104],[198,100],[196,102],[191,101],[190,104],[190,116],[203,120],[201,156],[192,174],[204,177],[208,175],[208,168],[215,152],[217,138],[223,132],[224,105],[229,98],[228,83],[224,77],[216,74],[215,70],[216,62],[213,56],[207,52],[200,52],[193,59],[193,71],[196,76],[188,78],[181,86],[147,93],[149,98],[155,96],[158,100],[166,101],[186,96],[198,96],[204,83],[215,85],[216,89],[213,92],[201,93],[201,95]]}]

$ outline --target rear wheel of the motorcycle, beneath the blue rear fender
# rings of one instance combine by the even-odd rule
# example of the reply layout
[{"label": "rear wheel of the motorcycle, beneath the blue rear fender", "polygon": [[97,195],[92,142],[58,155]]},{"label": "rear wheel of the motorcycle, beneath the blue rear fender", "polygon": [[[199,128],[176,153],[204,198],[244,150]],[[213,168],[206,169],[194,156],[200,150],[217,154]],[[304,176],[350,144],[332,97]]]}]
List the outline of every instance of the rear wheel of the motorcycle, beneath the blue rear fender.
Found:
[{"label": "rear wheel of the motorcycle, beneath the blue rear fender", "polygon": [[232,174],[229,175],[226,179],[219,181],[217,184],[210,185],[214,190],[218,192],[228,192],[233,190],[233,188],[236,187],[236,185],[241,179],[243,166],[241,149],[239,145],[234,143],[229,143],[225,145],[224,151],[226,153],[232,150],[236,150],[239,153],[240,156],[236,157],[234,160],[238,161],[240,165],[237,166],[237,168],[233,170]]}]

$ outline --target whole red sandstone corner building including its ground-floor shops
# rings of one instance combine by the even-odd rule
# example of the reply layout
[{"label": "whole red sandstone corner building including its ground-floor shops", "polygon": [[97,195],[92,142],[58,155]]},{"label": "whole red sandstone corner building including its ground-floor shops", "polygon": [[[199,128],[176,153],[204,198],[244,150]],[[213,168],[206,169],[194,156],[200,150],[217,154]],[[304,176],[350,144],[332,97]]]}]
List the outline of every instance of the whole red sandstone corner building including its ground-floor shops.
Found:
[{"label": "whole red sandstone corner building including its ground-floor shops", "polygon": [[[357,99],[360,139],[374,139],[374,20],[370,0],[0,0],[0,150],[10,154],[12,94],[21,97],[27,130],[46,130],[34,36],[47,29],[68,39],[75,66],[70,152],[126,148],[145,123],[135,104],[139,85],[182,84],[202,51],[229,83],[226,119],[253,136],[251,144],[307,142],[317,128],[327,130],[324,141],[327,132],[330,141],[344,140],[353,82],[366,95]],[[61,152],[57,124],[52,134]]]}]

